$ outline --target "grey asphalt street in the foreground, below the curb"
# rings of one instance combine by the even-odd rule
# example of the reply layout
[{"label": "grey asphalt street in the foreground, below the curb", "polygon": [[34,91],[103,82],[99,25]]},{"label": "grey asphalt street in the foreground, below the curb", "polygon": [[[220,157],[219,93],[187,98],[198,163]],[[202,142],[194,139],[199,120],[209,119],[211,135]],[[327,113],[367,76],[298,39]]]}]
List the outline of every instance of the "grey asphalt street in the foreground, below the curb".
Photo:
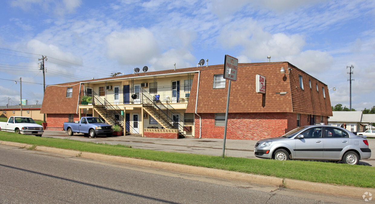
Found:
[{"label": "grey asphalt street in the foreground, below the curb", "polygon": [[363,202],[7,145],[0,155],[0,203]]}]

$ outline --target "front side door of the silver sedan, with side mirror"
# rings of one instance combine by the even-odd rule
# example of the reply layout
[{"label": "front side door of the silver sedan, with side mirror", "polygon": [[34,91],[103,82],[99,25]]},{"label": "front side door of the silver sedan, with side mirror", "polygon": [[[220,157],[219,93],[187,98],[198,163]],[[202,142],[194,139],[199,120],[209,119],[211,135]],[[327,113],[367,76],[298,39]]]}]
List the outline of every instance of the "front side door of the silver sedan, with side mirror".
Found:
[{"label": "front side door of the silver sedan, with side mirror", "polygon": [[295,159],[319,159],[323,157],[322,127],[312,127],[300,133],[303,138],[296,138]]}]

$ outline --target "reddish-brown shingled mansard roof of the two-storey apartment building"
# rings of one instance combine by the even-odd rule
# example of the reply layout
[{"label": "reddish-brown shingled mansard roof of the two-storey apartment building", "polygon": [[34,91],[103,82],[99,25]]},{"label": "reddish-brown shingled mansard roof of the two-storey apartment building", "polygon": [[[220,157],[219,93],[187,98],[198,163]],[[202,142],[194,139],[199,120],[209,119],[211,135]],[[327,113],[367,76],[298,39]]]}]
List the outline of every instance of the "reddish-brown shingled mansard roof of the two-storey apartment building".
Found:
[{"label": "reddish-brown shingled mansard roof of the two-storey apartment building", "polygon": [[[281,67],[287,70],[292,68],[289,75],[280,73]],[[199,90],[197,113],[225,113],[228,80],[224,89],[213,89],[213,75],[223,74],[223,65],[211,65],[183,69],[170,69],[147,72],[146,77],[165,74],[195,72],[189,103],[186,113],[195,113],[198,76]],[[198,74],[199,72],[199,74]],[[288,71],[287,71],[288,72]],[[266,77],[266,94],[255,92],[255,76]],[[139,75],[139,76],[138,76]],[[303,78],[303,87],[300,89],[299,76]],[[79,95],[79,84],[95,81],[131,80],[144,77],[145,73],[128,74],[117,77],[108,77],[95,80],[78,81],[65,84],[56,84],[46,87],[41,113],[76,113]],[[157,80],[158,78],[156,78]],[[309,80],[312,88],[309,87]],[[318,84],[318,91],[316,89]],[[73,89],[72,98],[66,98],[66,87],[77,86]],[[83,86],[83,85],[82,85]],[[322,87],[325,89],[323,97]],[[81,87],[83,90],[83,87]],[[308,75],[288,62],[270,63],[239,63],[237,81],[231,82],[229,113],[302,113],[315,115],[332,115],[332,108],[326,84]]]}]

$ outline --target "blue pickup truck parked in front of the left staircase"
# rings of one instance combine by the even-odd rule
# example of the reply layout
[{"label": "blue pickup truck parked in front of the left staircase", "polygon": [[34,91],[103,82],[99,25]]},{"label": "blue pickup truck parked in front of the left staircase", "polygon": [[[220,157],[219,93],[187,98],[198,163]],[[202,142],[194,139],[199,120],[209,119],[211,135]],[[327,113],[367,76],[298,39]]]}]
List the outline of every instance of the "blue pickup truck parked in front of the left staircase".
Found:
[{"label": "blue pickup truck parked in front of the left staircase", "polygon": [[84,133],[90,138],[95,135],[112,136],[113,128],[110,124],[105,124],[104,120],[98,117],[82,117],[78,123],[64,122],[64,130],[68,131],[68,135],[73,133]]}]

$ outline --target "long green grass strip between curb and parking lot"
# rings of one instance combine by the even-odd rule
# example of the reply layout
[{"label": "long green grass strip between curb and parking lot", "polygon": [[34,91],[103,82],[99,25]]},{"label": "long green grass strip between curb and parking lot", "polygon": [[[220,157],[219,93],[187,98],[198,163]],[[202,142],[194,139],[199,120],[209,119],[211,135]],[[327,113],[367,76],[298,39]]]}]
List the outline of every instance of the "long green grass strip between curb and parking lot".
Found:
[{"label": "long green grass strip between curb and parking lot", "polygon": [[375,188],[375,168],[372,166],[301,160],[276,161],[272,159],[248,159],[241,157],[224,157],[223,159],[221,156],[144,150],[129,148],[125,145],[95,144],[71,139],[17,135],[9,132],[0,132],[0,140],[161,162],[180,163],[184,165],[203,166],[279,178]]}]

